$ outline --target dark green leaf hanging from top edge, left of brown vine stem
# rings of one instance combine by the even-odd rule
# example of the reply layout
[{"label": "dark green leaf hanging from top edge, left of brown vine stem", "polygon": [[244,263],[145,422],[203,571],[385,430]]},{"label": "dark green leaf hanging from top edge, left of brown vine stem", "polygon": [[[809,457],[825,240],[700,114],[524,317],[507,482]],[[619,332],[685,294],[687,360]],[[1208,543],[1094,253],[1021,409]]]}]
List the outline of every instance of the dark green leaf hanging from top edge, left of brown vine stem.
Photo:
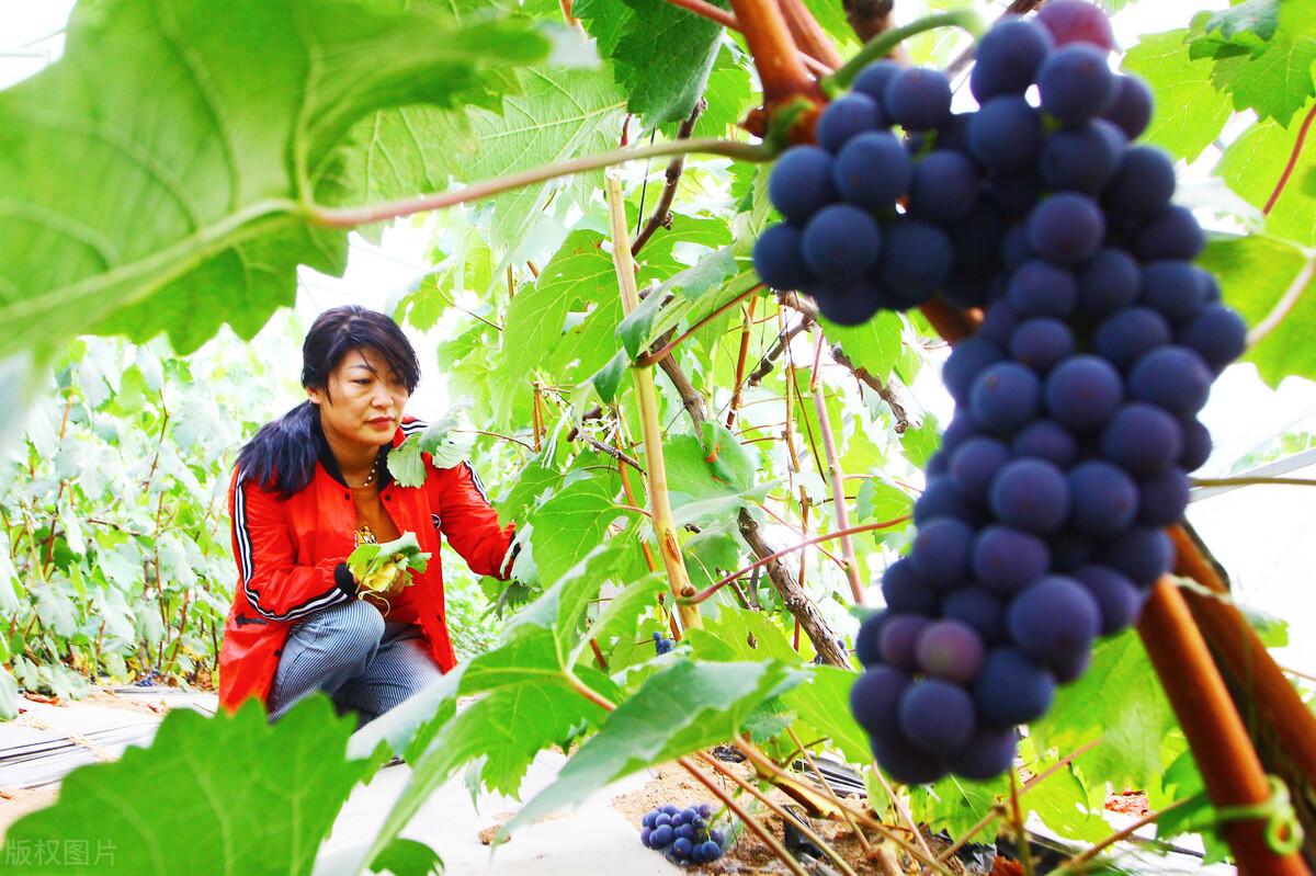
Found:
[{"label": "dark green leaf hanging from top edge, left of brown vine stem", "polygon": [[663,0],[580,0],[572,9],[630,96],[645,128],[679,121],[704,93],[721,25]]}]

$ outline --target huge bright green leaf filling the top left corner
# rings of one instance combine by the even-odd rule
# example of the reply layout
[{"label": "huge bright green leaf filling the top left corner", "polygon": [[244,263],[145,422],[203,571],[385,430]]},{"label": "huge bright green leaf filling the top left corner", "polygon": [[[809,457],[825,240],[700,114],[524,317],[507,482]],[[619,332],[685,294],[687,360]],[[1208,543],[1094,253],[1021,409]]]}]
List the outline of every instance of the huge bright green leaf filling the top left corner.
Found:
[{"label": "huge bright green leaf filling the top left corner", "polygon": [[62,59],[0,93],[0,355],[91,330],[253,337],[297,264],[343,270],[346,234],[308,205],[358,118],[461,105],[547,49],[525,21],[383,3],[78,7]]}]

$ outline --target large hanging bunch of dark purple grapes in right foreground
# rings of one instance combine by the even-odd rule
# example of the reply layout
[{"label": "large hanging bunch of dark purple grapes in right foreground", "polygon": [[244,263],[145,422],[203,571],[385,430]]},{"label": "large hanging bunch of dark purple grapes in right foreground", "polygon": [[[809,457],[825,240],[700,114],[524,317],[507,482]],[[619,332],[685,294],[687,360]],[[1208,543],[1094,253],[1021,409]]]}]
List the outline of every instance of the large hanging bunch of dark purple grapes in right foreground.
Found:
[{"label": "large hanging bunch of dark purple grapes in right foreground", "polygon": [[1171,162],[1132,143],[1152,97],[1112,47],[1083,0],[1007,18],[962,114],[940,74],[878,62],[770,180],[770,285],[842,324],[934,291],[984,310],[945,364],[955,416],[909,555],[857,639],[851,710],[905,783],[1008,769],[1016,726],[1136,621],[1211,451],[1196,414],[1244,349]]}]

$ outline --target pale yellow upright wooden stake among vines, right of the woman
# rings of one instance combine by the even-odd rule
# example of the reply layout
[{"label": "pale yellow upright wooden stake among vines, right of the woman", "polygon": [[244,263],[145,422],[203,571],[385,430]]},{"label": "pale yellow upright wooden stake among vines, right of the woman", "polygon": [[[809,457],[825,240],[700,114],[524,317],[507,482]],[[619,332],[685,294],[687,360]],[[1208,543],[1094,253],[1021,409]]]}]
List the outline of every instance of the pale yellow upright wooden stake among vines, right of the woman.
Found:
[{"label": "pale yellow upright wooden stake among vines, right of the woman", "polygon": [[[622,309],[626,316],[640,306],[640,293],[636,291],[636,268],[630,256],[630,241],[626,234],[626,201],[621,193],[621,183],[613,175],[604,179],[608,192],[608,214],[612,220],[612,262],[617,270],[617,285],[621,289]],[[640,405],[640,420],[644,426],[645,458],[647,459],[649,505],[653,509],[654,538],[658,539],[658,552],[667,570],[667,583],[680,614],[683,630],[703,626],[699,608],[687,605],[680,597],[694,591],[686,560],[676,539],[676,526],[671,517],[671,502],[667,499],[667,464],[662,449],[662,424],[658,422],[658,393],[654,389],[653,368],[632,368],[636,380],[636,397]]]}]

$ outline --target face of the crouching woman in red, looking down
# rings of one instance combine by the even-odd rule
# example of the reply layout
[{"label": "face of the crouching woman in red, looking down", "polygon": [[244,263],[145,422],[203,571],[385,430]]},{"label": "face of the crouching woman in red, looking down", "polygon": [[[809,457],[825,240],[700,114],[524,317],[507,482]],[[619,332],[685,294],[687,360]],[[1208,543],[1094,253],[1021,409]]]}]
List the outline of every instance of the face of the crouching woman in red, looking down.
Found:
[{"label": "face of the crouching woman in red, looking down", "polygon": [[320,405],[320,424],[341,442],[387,445],[403,418],[407,384],[383,356],[370,349],[353,350],[329,375],[329,392],[307,389]]}]

